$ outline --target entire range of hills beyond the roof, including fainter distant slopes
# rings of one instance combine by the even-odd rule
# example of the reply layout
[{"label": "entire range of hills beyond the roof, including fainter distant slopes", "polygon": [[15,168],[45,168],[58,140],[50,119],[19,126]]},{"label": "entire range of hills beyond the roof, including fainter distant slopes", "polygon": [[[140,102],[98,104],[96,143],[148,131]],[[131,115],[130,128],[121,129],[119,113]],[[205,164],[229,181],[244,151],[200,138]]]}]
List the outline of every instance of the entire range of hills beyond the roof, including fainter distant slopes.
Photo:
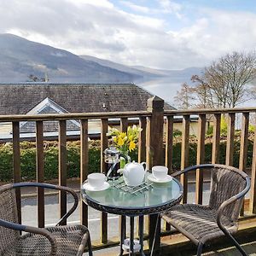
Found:
[{"label": "entire range of hills beyond the roof, including fainter distant slopes", "polygon": [[[74,55],[20,38],[0,34],[0,83],[29,82],[29,76],[47,76],[52,83],[137,83],[170,77],[185,82],[201,68],[164,70],[142,66],[126,66],[90,55]],[[190,77],[189,77],[190,76]]]}]

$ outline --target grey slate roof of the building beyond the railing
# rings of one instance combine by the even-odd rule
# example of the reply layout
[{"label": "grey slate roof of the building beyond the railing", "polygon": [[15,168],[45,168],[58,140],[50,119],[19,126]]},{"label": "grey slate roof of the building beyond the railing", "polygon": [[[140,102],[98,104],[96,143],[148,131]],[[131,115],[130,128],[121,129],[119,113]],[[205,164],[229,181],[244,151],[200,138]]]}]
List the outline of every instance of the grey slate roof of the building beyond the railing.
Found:
[{"label": "grey slate roof of the building beyond the railing", "polygon": [[142,111],[152,96],[136,84],[0,84],[0,114],[28,113],[47,97],[69,113]]}]

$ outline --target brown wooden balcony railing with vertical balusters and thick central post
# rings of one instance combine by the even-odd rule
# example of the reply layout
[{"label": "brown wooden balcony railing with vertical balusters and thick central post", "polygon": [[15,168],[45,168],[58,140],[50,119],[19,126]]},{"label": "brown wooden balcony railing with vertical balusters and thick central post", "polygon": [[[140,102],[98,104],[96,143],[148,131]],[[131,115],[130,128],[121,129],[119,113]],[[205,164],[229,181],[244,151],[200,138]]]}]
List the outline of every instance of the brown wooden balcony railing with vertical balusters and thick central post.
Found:
[{"label": "brown wooden balcony railing with vertical balusters and thick central post", "polygon": [[[148,109],[143,112],[123,112],[123,113],[65,113],[65,114],[40,114],[40,115],[12,115],[0,116],[1,122],[12,122],[13,126],[13,160],[14,160],[14,182],[20,182],[20,122],[36,122],[36,146],[37,146],[37,181],[44,182],[44,121],[56,120],[59,123],[59,183],[67,185],[67,120],[76,119],[80,121],[80,181],[84,182],[88,175],[89,147],[88,147],[88,122],[90,119],[101,120],[101,151],[108,148],[108,120],[119,119],[122,131],[126,131],[129,118],[137,118],[139,125],[143,128],[138,142],[138,160],[147,160],[148,166],[166,165],[169,172],[173,170],[173,131],[177,117],[182,118],[182,145],[181,163],[183,169],[189,165],[189,126],[191,116],[198,118],[198,134],[196,164],[205,163],[205,144],[207,117],[212,117],[213,137],[212,137],[212,163],[219,162],[220,154],[220,124],[221,115],[228,117],[228,132],[226,143],[225,164],[233,165],[235,125],[239,119],[241,129],[241,148],[239,158],[239,168],[243,171],[249,167],[252,176],[252,189],[249,199],[249,208],[245,214],[245,207],[241,215],[253,215],[256,212],[256,136],[253,142],[253,162],[252,166],[247,166],[247,142],[250,113],[255,113],[256,108],[232,108],[232,109],[195,109],[195,110],[172,110],[164,111],[164,102],[157,97],[148,100]],[[256,134],[256,132],[254,132]],[[164,138],[165,134],[165,139]],[[165,142],[164,142],[165,141]],[[101,160],[101,172],[104,172],[103,159]],[[195,201],[202,203],[203,199],[203,173],[196,172],[195,177]],[[181,177],[183,183],[183,202],[188,201],[188,177]],[[60,215],[67,211],[67,197],[60,194]],[[18,195],[18,207],[20,209],[20,195]],[[81,204],[80,221],[81,224],[88,225],[88,207]],[[20,212],[20,211],[19,211]],[[246,217],[245,216],[245,217]],[[20,218],[21,219],[21,218]],[[155,216],[148,218],[148,235],[153,234]],[[101,221],[101,241],[108,244],[108,214],[102,213]],[[44,227],[44,189],[38,189],[38,226]],[[166,225],[168,231],[170,227]],[[151,236],[153,237],[153,236]],[[160,239],[160,238],[159,238]]]}]

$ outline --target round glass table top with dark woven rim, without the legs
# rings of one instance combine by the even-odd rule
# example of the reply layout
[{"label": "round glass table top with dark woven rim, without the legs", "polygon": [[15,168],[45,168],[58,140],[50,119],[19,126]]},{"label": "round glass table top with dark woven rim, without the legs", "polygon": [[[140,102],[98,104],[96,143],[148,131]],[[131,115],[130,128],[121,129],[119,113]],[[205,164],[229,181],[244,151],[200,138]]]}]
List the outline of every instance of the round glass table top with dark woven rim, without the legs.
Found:
[{"label": "round glass table top with dark woven rim, without the legs", "polygon": [[[146,184],[151,185],[148,186],[147,189],[141,189],[134,194],[123,190],[124,187],[120,189],[120,185],[116,187],[113,186],[112,182],[109,182],[110,187],[108,189],[102,191],[84,189],[83,184],[81,188],[83,201],[90,207],[101,212],[125,216],[138,216],[162,212],[181,201],[183,187],[176,178],[172,178],[170,182],[166,183],[154,183],[149,181],[147,177],[148,174],[145,178]],[[122,178],[115,181],[115,184],[121,183],[121,181]],[[127,190],[127,187],[125,189]],[[133,191],[136,189],[133,189]]]}]

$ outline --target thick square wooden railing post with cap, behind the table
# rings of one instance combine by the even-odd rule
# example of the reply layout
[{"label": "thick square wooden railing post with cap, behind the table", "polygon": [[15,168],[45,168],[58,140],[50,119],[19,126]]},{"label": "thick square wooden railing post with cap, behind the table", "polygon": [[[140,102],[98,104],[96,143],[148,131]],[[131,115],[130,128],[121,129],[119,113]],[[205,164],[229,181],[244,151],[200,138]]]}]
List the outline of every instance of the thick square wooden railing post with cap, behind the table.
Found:
[{"label": "thick square wooden railing post with cap, behind the table", "polygon": [[[147,124],[147,164],[148,167],[164,165],[164,143],[163,143],[163,125],[164,125],[164,101],[154,96],[148,99],[148,112],[152,115],[148,118]],[[149,247],[152,247],[154,240],[154,230],[157,224],[157,214],[150,215],[148,218]],[[156,252],[160,247],[160,221],[158,222],[155,237]]]}]

